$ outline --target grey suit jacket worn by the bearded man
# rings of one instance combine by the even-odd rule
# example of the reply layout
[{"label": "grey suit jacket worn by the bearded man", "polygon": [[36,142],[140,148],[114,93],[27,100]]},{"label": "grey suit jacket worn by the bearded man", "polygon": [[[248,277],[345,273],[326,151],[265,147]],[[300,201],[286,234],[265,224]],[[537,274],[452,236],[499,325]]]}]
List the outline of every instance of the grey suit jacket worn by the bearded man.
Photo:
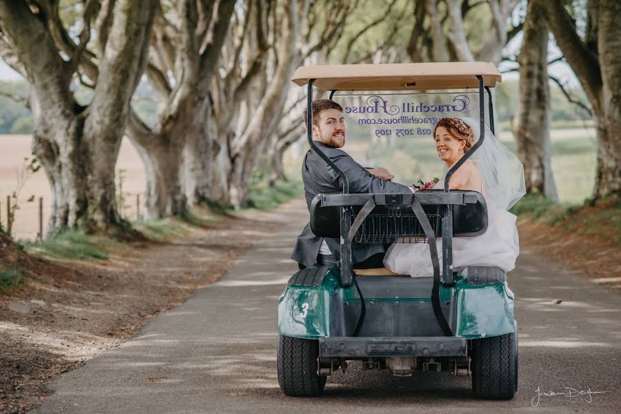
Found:
[{"label": "grey suit jacket worn by the bearded man", "polygon": [[[411,193],[411,190],[402,184],[393,183],[372,175],[365,168],[357,164],[346,152],[337,148],[330,148],[322,142],[315,144],[324,151],[328,157],[344,172],[349,180],[350,193]],[[302,163],[302,180],[304,181],[304,195],[306,206],[310,213],[311,201],[317,194],[342,193],[343,183],[341,177],[322,159],[313,149],[306,152]],[[311,231],[310,221],[297,237],[293,255],[291,258],[304,266],[313,266],[322,244],[322,237],[318,237]],[[326,237],[326,244],[330,248],[335,259],[339,259],[339,239]],[[386,246],[383,244],[352,244],[352,262],[359,263],[364,259],[383,253]]]}]

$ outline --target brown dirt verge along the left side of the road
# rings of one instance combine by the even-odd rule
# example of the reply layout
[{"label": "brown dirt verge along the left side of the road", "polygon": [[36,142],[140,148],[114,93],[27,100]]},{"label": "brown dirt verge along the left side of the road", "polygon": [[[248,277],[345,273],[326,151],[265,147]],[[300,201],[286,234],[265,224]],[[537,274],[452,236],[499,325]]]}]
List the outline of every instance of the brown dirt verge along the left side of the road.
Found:
[{"label": "brown dirt verge along the left side of the road", "polygon": [[52,393],[55,375],[130,339],[161,311],[226,275],[239,257],[305,211],[300,199],[248,211],[166,243],[130,244],[108,260],[28,261],[21,290],[0,295],[0,413],[22,413]]}]

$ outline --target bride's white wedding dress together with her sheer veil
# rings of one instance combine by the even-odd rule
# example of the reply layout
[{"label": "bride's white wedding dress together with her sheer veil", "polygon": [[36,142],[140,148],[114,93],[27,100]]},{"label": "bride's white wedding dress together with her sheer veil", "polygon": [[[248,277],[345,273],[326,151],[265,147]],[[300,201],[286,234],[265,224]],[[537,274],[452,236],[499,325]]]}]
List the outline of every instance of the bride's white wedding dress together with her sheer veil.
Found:
[{"label": "bride's white wedding dress together with her sheer veil", "polygon": [[[475,137],[479,137],[477,121],[462,120],[473,128]],[[486,199],[488,226],[482,235],[453,238],[453,270],[463,266],[495,266],[508,272],[515,267],[520,253],[516,217],[507,210],[526,193],[522,164],[487,128],[482,145],[466,162],[469,161],[479,168],[483,178],[481,193]],[[435,188],[444,188],[444,179]],[[441,239],[437,239],[437,252],[442,266]],[[400,275],[433,276],[427,243],[393,244],[386,252],[384,266]]]}]

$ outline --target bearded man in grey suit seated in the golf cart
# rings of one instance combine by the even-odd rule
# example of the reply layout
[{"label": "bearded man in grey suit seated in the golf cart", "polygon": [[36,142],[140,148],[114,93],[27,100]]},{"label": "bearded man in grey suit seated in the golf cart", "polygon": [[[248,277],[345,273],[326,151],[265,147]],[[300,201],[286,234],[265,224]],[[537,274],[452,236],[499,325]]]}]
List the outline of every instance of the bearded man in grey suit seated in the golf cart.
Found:
[{"label": "bearded man in grey suit seated in the golf cart", "polygon": [[[304,121],[306,124],[306,111]],[[393,183],[384,168],[367,170],[357,164],[346,152],[343,108],[330,99],[313,101],[313,141],[342,170],[349,181],[350,193],[411,193],[410,188]],[[342,193],[341,177],[311,148],[302,163],[302,180],[306,206],[310,212],[311,201],[317,194]],[[383,244],[352,244],[354,268],[383,267],[386,246]],[[339,261],[339,239],[322,238],[313,234],[311,224],[306,224],[297,237],[291,258],[300,268],[314,264],[336,265]]]}]

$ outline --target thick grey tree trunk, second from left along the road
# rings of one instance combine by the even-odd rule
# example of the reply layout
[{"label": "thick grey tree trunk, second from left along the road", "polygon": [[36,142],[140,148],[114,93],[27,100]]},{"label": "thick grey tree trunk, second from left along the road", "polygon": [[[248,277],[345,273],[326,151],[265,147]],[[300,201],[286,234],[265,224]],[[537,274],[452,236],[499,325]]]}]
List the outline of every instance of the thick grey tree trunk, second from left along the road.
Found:
[{"label": "thick grey tree trunk, second from left along the road", "polygon": [[[128,136],[147,171],[146,215],[175,215],[208,199],[215,121],[214,91],[235,1],[175,2],[159,8],[146,74],[165,102],[152,130],[132,112]],[[170,9],[170,10],[166,10]],[[173,19],[166,19],[172,12]],[[174,21],[172,24],[170,21]],[[221,79],[219,79],[221,80]]]}]

